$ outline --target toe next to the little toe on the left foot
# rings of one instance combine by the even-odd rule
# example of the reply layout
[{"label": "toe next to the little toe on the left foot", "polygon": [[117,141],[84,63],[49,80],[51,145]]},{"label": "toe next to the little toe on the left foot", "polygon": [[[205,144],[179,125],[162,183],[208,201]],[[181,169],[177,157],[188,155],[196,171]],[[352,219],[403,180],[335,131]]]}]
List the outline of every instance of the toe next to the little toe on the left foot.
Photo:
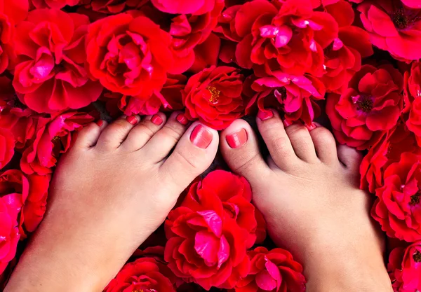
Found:
[{"label": "toe next to the little toe on the left foot", "polygon": [[111,125],[102,131],[95,148],[102,150],[119,148],[121,143],[126,139],[128,133],[139,123],[139,121],[139,116],[123,116],[114,120]]}]

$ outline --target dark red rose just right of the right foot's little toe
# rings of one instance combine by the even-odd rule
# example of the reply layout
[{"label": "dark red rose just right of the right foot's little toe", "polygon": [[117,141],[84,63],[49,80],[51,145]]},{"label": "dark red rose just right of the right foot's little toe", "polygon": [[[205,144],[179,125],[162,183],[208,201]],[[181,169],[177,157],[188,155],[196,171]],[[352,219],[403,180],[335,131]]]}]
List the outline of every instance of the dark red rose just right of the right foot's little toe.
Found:
[{"label": "dark red rose just right of the right foot's little toe", "polygon": [[420,153],[415,137],[400,124],[382,133],[381,138],[368,150],[360,165],[361,188],[375,193],[383,185],[383,173],[394,162],[399,162],[401,153]]}]

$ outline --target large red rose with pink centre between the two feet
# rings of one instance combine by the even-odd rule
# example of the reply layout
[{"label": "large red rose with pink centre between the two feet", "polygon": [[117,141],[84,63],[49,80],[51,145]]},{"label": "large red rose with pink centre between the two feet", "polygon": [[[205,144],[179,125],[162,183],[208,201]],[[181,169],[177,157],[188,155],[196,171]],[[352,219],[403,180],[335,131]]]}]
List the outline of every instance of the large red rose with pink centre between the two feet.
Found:
[{"label": "large red rose with pink centre between the two feet", "polygon": [[234,288],[246,277],[246,249],[262,229],[250,200],[246,179],[229,172],[211,172],[192,184],[165,223],[165,259],[177,277],[205,289]]}]

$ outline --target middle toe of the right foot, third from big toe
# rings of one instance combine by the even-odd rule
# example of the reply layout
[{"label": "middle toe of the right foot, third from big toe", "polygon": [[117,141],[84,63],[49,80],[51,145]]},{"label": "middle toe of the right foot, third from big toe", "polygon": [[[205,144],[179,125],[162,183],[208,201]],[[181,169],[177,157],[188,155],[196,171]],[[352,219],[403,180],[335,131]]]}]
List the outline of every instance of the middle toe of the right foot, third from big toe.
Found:
[{"label": "middle toe of the right foot, third from big toe", "polygon": [[319,162],[314,148],[312,136],[305,125],[293,124],[286,128],[286,134],[293,145],[295,154],[303,161]]}]

